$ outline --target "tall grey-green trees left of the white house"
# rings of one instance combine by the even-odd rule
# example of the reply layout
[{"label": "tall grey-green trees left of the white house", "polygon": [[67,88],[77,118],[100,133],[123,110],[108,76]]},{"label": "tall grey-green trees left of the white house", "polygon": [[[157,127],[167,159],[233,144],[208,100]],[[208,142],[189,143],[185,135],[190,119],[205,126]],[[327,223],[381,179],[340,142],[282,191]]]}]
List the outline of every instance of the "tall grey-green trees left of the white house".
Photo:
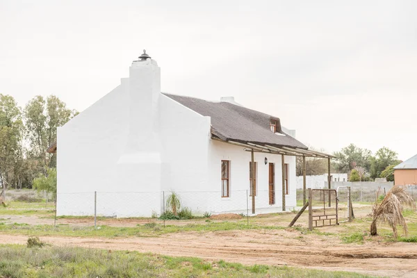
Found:
[{"label": "tall grey-green trees left of the white house", "polygon": [[78,112],[58,97],[33,97],[24,108],[10,95],[0,94],[0,186],[31,188],[37,177],[56,167],[47,148],[56,141],[56,129]]}]

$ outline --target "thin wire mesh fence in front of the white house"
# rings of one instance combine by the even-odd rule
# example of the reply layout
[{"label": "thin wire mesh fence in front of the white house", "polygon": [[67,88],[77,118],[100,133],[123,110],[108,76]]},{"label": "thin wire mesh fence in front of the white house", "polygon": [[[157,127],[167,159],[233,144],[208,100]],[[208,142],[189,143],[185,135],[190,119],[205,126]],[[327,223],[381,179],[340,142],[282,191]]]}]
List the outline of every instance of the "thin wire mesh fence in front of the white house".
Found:
[{"label": "thin wire mesh fence in front of the white house", "polygon": [[[175,195],[179,205],[170,199]],[[256,190],[255,213],[283,211],[282,190]],[[285,209],[297,206],[296,190],[285,192]],[[58,193],[58,216],[99,216],[108,218],[160,218],[167,211],[178,214],[186,210],[193,216],[234,213],[252,215],[250,190],[231,190],[228,197],[220,191],[158,192],[85,192]]]}]

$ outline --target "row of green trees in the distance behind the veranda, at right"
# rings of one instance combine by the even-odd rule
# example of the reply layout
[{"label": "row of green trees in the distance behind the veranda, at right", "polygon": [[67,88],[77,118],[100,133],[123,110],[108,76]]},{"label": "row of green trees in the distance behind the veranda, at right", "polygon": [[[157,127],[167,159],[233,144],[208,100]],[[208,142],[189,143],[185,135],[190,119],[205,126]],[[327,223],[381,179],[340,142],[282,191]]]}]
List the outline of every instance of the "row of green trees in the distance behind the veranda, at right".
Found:
[{"label": "row of green trees in the distance behind the veranda, at right", "polygon": [[[398,154],[388,147],[382,147],[375,154],[369,149],[362,149],[354,144],[334,152],[331,172],[347,173],[350,181],[373,181],[386,178],[393,181],[393,167],[401,163]],[[302,158],[297,157],[297,176],[302,176]],[[306,174],[317,175],[327,173],[327,160],[322,158],[306,158]]]}]

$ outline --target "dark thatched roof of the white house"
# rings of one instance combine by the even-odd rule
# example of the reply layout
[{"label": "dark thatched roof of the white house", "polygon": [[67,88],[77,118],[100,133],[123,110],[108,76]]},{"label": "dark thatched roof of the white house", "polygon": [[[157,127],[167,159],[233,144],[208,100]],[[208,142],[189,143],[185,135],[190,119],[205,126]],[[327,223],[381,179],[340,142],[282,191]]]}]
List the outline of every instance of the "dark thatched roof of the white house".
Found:
[{"label": "dark thatched roof of the white house", "polygon": [[[278,117],[229,102],[206,101],[195,97],[183,97],[166,93],[164,95],[200,115],[211,117],[211,133],[222,140],[307,149],[302,142],[282,131]],[[270,131],[271,120],[277,122],[277,133],[280,134]]]}]

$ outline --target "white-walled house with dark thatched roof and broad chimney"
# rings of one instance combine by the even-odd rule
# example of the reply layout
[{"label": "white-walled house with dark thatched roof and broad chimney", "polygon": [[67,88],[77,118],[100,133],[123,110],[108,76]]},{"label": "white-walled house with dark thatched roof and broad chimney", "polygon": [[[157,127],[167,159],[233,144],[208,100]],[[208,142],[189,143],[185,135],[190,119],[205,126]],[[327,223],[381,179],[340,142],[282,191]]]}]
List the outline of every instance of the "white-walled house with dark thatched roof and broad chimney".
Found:
[{"label": "white-walled house with dark thatched roof and broad chimney", "polygon": [[252,154],[256,213],[296,205],[295,156],[310,153],[278,117],[161,93],[156,60],[139,58],[58,129],[58,215],[92,215],[95,191],[98,215],[160,214],[171,191],[194,213],[252,211]]}]

